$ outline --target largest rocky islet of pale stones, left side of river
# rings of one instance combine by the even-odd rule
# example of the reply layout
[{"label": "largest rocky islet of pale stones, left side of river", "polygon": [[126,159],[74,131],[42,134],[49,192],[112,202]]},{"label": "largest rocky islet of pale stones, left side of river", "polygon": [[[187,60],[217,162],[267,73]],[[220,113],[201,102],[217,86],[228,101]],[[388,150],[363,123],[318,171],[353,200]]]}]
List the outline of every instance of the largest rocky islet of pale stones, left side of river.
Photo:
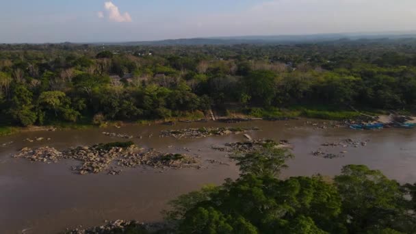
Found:
[{"label": "largest rocky islet of pale stones, left side of river", "polygon": [[57,162],[60,159],[75,159],[82,162],[81,166],[72,167],[72,170],[79,174],[99,173],[105,170],[108,170],[107,174],[120,174],[121,170],[109,168],[113,161],[122,167],[145,165],[155,168],[183,168],[198,164],[196,158],[188,155],[161,153],[154,150],[143,152],[143,149],[138,149],[134,145],[123,147],[114,144],[72,147],[62,152],[49,146],[34,150],[23,148],[13,157],[47,163]]}]

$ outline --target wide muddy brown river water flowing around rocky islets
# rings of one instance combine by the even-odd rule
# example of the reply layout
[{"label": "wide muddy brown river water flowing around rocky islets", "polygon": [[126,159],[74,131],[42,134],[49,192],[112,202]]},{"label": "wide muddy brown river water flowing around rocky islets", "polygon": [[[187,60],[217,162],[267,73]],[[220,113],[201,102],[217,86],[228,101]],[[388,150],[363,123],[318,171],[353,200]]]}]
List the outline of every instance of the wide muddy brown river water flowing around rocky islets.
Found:
[{"label": "wide muddy brown river water flowing around rocky islets", "polygon": [[[307,123],[308,121],[308,123]],[[382,170],[388,177],[402,183],[416,181],[416,131],[384,129],[382,131],[354,131],[345,128],[317,129],[311,123],[318,120],[291,120],[282,122],[254,121],[237,124],[220,122],[179,123],[166,125],[127,125],[116,129],[88,129],[71,131],[37,131],[0,138],[0,233],[58,233],[77,225],[96,226],[104,220],[161,220],[161,210],[169,200],[180,194],[197,190],[206,184],[221,184],[226,178],[237,178],[238,169],[226,153],[214,151],[211,146],[244,140],[242,134],[213,136],[198,139],[159,138],[161,130],[189,127],[259,127],[250,132],[252,138],[289,140],[294,146],[295,159],[283,177],[312,175],[333,176],[346,164],[365,164]],[[138,167],[123,169],[119,176],[105,174],[74,174],[70,166],[77,161],[64,160],[57,164],[33,163],[14,159],[14,153],[25,146],[53,146],[64,149],[70,146],[91,145],[120,141],[102,132],[134,135],[139,146],[156,148],[170,153],[199,155],[203,169],[185,168],[161,170]],[[152,135],[153,134],[153,135]],[[142,139],[138,136],[142,136]],[[149,137],[151,135],[151,137]],[[30,138],[51,138],[27,142]],[[357,148],[323,147],[326,142],[369,140],[367,146]],[[3,143],[13,142],[7,146]],[[322,148],[328,153],[348,151],[345,157],[323,159],[311,155]],[[187,149],[190,151],[188,152]],[[209,164],[216,159],[227,165]]]}]

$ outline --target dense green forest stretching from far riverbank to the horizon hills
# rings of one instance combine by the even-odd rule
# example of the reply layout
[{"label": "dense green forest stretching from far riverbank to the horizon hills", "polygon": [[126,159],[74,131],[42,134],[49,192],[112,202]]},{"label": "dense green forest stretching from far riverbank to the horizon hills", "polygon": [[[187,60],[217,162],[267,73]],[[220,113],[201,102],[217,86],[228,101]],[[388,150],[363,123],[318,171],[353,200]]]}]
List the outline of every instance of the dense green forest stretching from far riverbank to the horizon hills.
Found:
[{"label": "dense green forest stretching from far riverbank to the horizon hills", "polygon": [[415,110],[415,40],[0,44],[3,126],[164,119],[229,107],[262,115],[351,106]]}]

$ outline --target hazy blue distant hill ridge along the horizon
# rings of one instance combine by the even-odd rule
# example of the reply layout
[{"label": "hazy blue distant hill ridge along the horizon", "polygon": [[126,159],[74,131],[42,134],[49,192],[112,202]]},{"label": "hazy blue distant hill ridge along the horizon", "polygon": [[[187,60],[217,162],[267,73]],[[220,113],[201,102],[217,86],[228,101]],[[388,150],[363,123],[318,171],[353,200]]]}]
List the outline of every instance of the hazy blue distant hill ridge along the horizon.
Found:
[{"label": "hazy blue distant hill ridge along the horizon", "polygon": [[336,40],[385,40],[416,38],[416,32],[406,34],[311,34],[283,36],[230,36],[213,38],[181,38],[170,40],[155,40],[141,42],[108,42],[93,44],[117,44],[125,46],[136,45],[233,45],[233,44],[296,44],[317,43]]}]

